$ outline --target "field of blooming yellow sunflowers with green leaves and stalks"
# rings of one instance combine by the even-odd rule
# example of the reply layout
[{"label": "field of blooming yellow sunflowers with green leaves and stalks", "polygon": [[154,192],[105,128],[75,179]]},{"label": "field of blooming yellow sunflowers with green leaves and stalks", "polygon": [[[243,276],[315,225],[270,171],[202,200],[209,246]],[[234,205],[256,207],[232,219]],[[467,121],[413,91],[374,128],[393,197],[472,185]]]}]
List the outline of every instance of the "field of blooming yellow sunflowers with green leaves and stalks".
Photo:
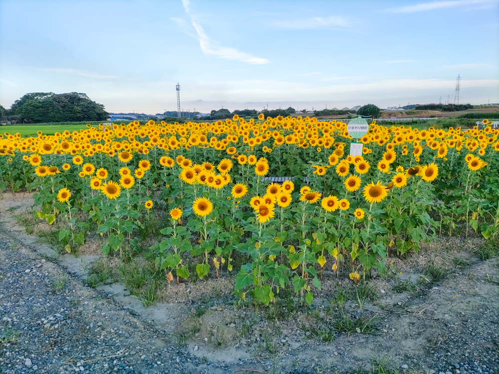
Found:
[{"label": "field of blooming yellow sunflowers with green leaves and stalks", "polygon": [[161,216],[151,249],[169,282],[233,276],[237,295],[264,305],[286,287],[311,304],[323,277],[384,276],[388,252],[441,235],[499,236],[499,130],[486,120],[373,123],[360,139],[346,127],[260,115],[4,133],[0,190],[34,191],[37,219],[59,224],[68,252],[94,228],[103,255],[122,258]]}]

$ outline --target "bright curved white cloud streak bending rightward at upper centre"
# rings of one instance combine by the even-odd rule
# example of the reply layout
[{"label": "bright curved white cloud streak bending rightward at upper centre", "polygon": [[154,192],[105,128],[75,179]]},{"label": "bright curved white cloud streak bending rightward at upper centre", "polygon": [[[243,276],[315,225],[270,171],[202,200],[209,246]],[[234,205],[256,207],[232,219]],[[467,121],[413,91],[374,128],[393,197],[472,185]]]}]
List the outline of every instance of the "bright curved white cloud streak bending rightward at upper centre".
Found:
[{"label": "bright curved white cloud streak bending rightward at upper centre", "polygon": [[205,30],[201,26],[199,22],[196,21],[195,17],[191,14],[191,8],[189,7],[189,0],[182,0],[182,4],[184,5],[184,9],[186,13],[191,17],[191,23],[196,29],[199,39],[199,45],[201,47],[201,51],[205,55],[214,55],[219,56],[221,58],[225,58],[226,60],[236,60],[241,62],[247,62],[249,64],[268,64],[269,61],[266,58],[260,58],[250,55],[246,52],[238,51],[236,48],[231,47],[223,47],[216,45],[208,35],[206,35]]}]

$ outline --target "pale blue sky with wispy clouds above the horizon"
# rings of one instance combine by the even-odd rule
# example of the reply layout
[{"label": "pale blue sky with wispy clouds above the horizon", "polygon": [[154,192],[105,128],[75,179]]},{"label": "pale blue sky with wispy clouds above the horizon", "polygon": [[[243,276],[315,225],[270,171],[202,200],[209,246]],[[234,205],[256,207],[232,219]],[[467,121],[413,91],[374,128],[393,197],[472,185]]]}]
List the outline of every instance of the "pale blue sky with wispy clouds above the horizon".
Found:
[{"label": "pale blue sky with wispy clouds above the horizon", "polygon": [[0,104],[112,112],[499,102],[499,1],[0,0]]}]

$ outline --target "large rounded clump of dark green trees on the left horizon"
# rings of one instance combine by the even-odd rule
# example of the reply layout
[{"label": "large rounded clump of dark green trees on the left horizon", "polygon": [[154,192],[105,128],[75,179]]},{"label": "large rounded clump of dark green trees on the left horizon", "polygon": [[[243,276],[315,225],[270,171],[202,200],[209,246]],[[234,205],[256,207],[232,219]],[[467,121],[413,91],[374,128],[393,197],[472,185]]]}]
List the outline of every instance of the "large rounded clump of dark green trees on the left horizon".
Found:
[{"label": "large rounded clump of dark green trees on the left horizon", "polygon": [[104,105],[84,93],[34,92],[14,101],[10,109],[0,105],[0,119],[21,123],[104,121]]}]

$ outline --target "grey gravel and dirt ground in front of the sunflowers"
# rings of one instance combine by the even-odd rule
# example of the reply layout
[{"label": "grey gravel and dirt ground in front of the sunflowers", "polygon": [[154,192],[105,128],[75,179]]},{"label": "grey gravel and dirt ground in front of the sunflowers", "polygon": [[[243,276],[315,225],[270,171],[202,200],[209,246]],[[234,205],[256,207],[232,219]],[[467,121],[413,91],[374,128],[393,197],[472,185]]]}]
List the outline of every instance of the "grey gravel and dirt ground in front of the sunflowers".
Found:
[{"label": "grey gravel and dirt ground in front of the sunflowers", "polygon": [[85,286],[95,257],[57,257],[13,217],[30,195],[3,197],[0,373],[357,374],[372,373],[373,361],[386,369],[376,373],[499,373],[498,260],[472,253],[478,238],[388,259],[396,274],[371,282],[362,309],[352,294],[338,308],[351,282],[327,275],[311,308],[254,311],[230,293],[144,308],[119,283]]}]

